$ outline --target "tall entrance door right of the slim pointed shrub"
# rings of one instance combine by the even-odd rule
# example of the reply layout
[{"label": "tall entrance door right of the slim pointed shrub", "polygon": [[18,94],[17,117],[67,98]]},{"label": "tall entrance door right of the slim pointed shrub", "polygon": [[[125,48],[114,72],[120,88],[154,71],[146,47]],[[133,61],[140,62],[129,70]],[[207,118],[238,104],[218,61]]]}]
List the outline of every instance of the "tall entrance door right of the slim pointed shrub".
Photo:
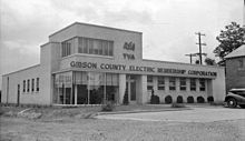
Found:
[{"label": "tall entrance door right of the slim pointed shrub", "polygon": [[127,75],[126,89],[128,91],[129,102],[136,103],[136,75]]}]

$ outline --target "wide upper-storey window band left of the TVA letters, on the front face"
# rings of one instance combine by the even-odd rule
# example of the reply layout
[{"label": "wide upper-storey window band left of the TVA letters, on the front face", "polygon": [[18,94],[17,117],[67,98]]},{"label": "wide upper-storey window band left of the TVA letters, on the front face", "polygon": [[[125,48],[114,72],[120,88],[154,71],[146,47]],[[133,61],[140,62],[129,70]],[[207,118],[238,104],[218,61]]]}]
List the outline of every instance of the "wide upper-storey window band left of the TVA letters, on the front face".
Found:
[{"label": "wide upper-storey window band left of the TVA letters, on the front face", "polygon": [[114,42],[80,37],[78,38],[78,52],[112,57]]}]

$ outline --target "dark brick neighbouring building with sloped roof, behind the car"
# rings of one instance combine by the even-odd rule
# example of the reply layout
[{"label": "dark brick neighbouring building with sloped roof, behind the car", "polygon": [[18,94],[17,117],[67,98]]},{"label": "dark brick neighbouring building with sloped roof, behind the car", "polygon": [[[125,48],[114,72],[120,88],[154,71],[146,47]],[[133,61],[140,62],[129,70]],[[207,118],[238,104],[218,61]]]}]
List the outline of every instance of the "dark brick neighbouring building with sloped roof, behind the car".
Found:
[{"label": "dark brick neighbouring building with sloped roof, behind the car", "polygon": [[245,44],[241,46],[226,59],[226,91],[245,88]]}]

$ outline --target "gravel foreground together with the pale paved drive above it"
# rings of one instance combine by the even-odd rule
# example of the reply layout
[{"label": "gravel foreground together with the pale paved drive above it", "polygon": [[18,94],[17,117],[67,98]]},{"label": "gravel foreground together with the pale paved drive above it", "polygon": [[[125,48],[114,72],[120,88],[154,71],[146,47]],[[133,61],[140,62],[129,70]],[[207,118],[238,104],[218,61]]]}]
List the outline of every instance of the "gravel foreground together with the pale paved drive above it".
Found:
[{"label": "gravel foreground together with the pale paved drive above it", "polygon": [[[228,118],[227,118],[228,117]],[[49,121],[0,117],[1,141],[244,141],[243,109],[99,115]],[[107,120],[112,118],[114,120]],[[135,118],[134,120],[128,120]],[[116,120],[120,119],[120,120]],[[124,119],[124,120],[121,120]],[[139,119],[139,120],[138,120]],[[238,120],[239,119],[239,120]],[[140,121],[144,120],[144,121]],[[155,120],[155,121],[151,121]],[[184,121],[184,122],[183,122]],[[190,122],[192,121],[192,122]],[[196,121],[196,122],[193,122]]]}]

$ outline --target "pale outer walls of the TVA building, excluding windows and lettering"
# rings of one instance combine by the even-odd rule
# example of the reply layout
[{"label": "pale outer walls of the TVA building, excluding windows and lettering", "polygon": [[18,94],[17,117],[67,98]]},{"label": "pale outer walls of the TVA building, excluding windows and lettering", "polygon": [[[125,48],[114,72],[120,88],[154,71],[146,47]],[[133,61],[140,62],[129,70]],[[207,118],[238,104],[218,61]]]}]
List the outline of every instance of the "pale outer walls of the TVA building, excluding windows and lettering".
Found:
[{"label": "pale outer walls of the TVA building, excluding windows and lettering", "polygon": [[[74,37],[87,37],[94,39],[102,39],[114,41],[114,57],[97,57],[91,54],[79,54],[77,53],[76,47],[72,48],[72,53],[69,57],[61,58],[60,42],[71,39]],[[9,77],[9,101],[17,101],[17,84],[20,83],[22,92],[22,81],[31,78],[40,78],[40,91],[36,93],[21,93],[20,103],[40,103],[40,104],[51,104],[52,103],[52,73],[62,72],[62,71],[97,71],[97,72],[114,72],[119,73],[119,101],[122,103],[122,98],[126,89],[126,74],[138,74],[137,80],[137,103],[147,103],[149,102],[150,91],[147,91],[147,75],[154,77],[154,90],[155,94],[160,97],[163,102],[165,97],[170,94],[173,100],[176,101],[177,95],[184,97],[184,102],[188,95],[193,95],[195,101],[198,95],[203,95],[205,99],[207,95],[214,95],[215,101],[224,101],[225,97],[225,73],[224,68],[219,67],[207,67],[207,66],[197,66],[188,63],[178,63],[178,62],[167,62],[167,61],[156,61],[156,60],[143,60],[143,44],[141,44],[141,33],[119,30],[112,28],[102,28],[98,26],[75,23],[71,24],[49,37],[49,42],[41,46],[41,57],[40,66],[24,69],[22,71],[17,71],[14,73],[6,74],[2,79],[2,102],[7,102],[7,77]],[[125,50],[125,42],[134,42],[135,51]],[[128,60],[124,58],[124,53],[130,53],[135,56],[135,60]],[[97,69],[89,68],[75,68],[70,66],[70,62],[91,62],[98,66]],[[101,69],[102,63],[107,64],[122,64],[126,67],[126,70],[115,70],[115,69]],[[151,67],[155,68],[155,72],[147,71],[131,71],[129,66],[135,67]],[[195,71],[210,71],[216,72],[217,75],[196,75],[179,73],[163,73],[158,72],[157,68],[165,69],[180,69],[180,70],[195,70]],[[157,90],[157,75],[165,75],[165,90]],[[168,77],[177,77],[176,80],[176,91],[168,90]],[[179,91],[179,77],[187,78],[187,91]],[[205,92],[189,91],[189,78],[205,78],[207,81],[207,89]],[[198,81],[198,79],[197,79]]]}]

